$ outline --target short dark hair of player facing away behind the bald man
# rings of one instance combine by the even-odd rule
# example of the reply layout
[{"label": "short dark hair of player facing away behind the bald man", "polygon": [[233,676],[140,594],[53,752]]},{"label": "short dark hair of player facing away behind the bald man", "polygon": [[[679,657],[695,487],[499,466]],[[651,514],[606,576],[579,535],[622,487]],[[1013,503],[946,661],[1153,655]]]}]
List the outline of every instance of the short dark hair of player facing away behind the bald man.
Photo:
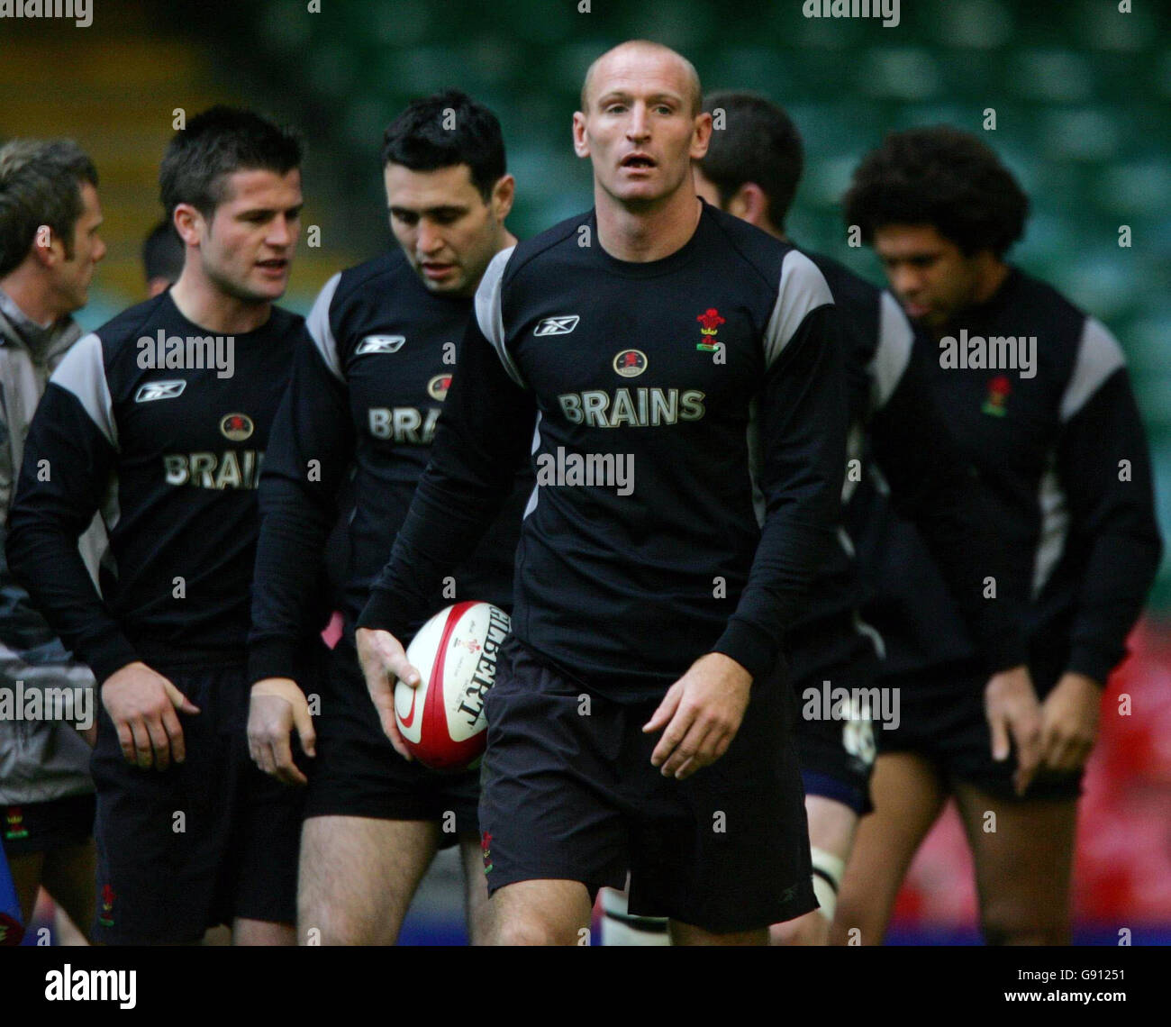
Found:
[{"label": "short dark hair of player facing away behind the bald man", "polygon": [[724,128],[713,129],[699,169],[711,179],[726,205],[745,183],[753,182],[768,197],[768,218],[785,228],[785,218],[804,170],[804,148],[793,119],[775,103],[755,93],[712,93],[704,110],[724,111]]}]

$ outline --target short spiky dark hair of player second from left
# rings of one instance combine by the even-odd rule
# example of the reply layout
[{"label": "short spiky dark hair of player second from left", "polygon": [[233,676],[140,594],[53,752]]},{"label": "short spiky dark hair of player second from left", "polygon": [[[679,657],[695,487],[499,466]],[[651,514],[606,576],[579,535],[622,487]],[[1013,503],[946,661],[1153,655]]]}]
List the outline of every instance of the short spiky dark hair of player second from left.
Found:
[{"label": "short spiky dark hair of player second from left", "polygon": [[158,170],[167,218],[191,204],[211,218],[224,201],[225,178],[237,171],[288,174],[301,166],[301,141],[251,110],[217,105],[196,115],[167,143]]}]

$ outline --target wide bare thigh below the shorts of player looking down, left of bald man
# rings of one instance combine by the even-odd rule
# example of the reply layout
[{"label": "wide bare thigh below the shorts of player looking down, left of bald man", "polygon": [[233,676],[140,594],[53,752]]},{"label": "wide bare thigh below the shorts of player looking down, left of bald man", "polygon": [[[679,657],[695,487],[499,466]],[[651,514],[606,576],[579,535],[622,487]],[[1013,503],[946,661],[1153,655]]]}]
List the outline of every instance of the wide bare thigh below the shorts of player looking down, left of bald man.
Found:
[{"label": "wide bare thigh below the shorts of player looking down, left of bald man", "polygon": [[433,821],[309,817],[301,829],[297,940],[393,945],[438,848]]}]

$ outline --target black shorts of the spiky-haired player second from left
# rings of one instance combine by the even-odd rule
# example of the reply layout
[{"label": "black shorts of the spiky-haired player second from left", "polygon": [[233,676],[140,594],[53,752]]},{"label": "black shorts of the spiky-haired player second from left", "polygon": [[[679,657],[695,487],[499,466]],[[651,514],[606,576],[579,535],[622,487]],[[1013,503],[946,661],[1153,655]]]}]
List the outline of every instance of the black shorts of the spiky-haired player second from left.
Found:
[{"label": "black shorts of the spiky-haired player second from left", "polygon": [[123,759],[98,704],[95,940],[196,942],[234,917],[294,923],[303,790],[248,755],[244,667],[156,670],[200,712],[179,714],[186,759],[160,773]]}]

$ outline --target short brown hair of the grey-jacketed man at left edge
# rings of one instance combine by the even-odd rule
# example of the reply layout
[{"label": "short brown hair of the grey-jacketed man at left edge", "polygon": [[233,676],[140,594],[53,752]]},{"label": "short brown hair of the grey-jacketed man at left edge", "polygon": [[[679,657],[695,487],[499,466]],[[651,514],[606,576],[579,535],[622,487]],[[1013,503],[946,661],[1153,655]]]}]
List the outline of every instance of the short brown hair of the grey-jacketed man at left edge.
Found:
[{"label": "short brown hair of the grey-jacketed man at left edge", "polygon": [[28,256],[41,225],[73,259],[87,182],[97,186],[97,169],[73,139],[12,139],[0,146],[0,278]]}]

